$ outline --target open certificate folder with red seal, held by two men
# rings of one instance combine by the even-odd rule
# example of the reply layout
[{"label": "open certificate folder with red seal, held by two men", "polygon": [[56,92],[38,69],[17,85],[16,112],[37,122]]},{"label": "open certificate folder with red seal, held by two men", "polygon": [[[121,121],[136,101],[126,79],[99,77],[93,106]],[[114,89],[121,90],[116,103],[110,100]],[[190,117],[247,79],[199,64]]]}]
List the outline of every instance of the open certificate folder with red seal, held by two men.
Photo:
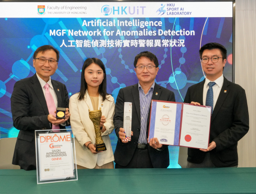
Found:
[{"label": "open certificate folder with red seal, held by two men", "polygon": [[207,149],[211,107],[152,100],[149,141],[156,137],[161,144]]}]

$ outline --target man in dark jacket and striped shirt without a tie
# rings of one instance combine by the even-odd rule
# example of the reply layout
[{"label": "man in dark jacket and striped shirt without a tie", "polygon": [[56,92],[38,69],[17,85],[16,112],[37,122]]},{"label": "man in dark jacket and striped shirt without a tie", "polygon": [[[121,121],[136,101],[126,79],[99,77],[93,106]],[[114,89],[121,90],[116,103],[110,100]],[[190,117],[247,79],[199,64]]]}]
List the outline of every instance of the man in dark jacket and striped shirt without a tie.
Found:
[{"label": "man in dark jacket and striped shirt without a tie", "polygon": [[[151,100],[175,101],[174,93],[157,85],[158,60],[148,51],[135,57],[134,70],[138,84],[121,88],[116,101],[114,126],[118,137],[115,151],[116,168],[167,168],[169,150],[157,138],[147,143]],[[124,102],[132,103],[132,138],[125,140],[123,129]]]}]

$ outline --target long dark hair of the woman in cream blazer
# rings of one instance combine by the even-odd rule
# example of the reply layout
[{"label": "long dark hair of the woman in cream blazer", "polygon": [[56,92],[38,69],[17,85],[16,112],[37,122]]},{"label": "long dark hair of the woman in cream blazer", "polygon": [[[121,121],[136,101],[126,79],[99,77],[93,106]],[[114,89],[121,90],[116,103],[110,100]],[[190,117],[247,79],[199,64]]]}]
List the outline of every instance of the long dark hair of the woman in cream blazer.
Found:
[{"label": "long dark hair of the woman in cream blazer", "polygon": [[84,100],[85,98],[85,92],[87,90],[87,83],[85,82],[85,69],[91,64],[91,63],[95,63],[98,64],[98,66],[100,66],[100,68],[103,70],[104,72],[104,79],[101,83],[101,85],[99,86],[99,93],[102,96],[102,102],[106,100],[106,95],[109,95],[107,93],[107,76],[106,76],[106,70],[104,67],[103,62],[98,59],[98,58],[88,58],[85,60],[83,68],[82,68],[82,73],[81,73],[81,87],[80,87],[80,93],[78,95],[78,100]]}]

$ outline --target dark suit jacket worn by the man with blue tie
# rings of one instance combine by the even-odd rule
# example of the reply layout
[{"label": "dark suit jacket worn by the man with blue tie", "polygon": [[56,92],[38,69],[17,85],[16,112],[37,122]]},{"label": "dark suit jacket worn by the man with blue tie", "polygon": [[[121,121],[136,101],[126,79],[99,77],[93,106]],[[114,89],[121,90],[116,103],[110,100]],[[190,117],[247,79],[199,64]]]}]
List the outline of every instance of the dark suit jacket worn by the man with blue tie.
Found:
[{"label": "dark suit jacket worn by the man with blue tie", "polygon": [[[205,79],[187,90],[184,103],[198,102],[203,105],[203,85]],[[227,92],[225,92],[225,90]],[[217,167],[238,165],[237,141],[249,130],[249,114],[245,90],[224,77],[223,86],[216,102],[210,128],[210,142],[216,148],[210,151],[213,164]],[[199,164],[205,152],[188,148],[187,160]]]}]

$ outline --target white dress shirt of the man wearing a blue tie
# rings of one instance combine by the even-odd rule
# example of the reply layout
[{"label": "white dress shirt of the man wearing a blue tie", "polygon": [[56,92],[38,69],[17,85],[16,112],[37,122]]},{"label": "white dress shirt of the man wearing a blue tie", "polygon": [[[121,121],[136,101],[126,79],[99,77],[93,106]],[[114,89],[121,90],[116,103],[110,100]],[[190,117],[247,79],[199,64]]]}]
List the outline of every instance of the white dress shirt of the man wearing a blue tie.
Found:
[{"label": "white dress shirt of the man wearing a blue tie", "polygon": [[205,82],[204,82],[204,85],[203,85],[203,105],[205,106],[205,102],[206,102],[206,94],[207,94],[207,91],[209,89],[209,86],[208,86],[208,83],[209,82],[215,82],[216,84],[213,86],[213,109],[215,107],[215,104],[218,100],[218,97],[219,97],[219,92],[221,90],[221,87],[223,85],[223,82],[224,82],[224,77],[223,77],[223,74],[215,79],[214,81],[210,81],[209,79],[207,79],[205,77]]}]

